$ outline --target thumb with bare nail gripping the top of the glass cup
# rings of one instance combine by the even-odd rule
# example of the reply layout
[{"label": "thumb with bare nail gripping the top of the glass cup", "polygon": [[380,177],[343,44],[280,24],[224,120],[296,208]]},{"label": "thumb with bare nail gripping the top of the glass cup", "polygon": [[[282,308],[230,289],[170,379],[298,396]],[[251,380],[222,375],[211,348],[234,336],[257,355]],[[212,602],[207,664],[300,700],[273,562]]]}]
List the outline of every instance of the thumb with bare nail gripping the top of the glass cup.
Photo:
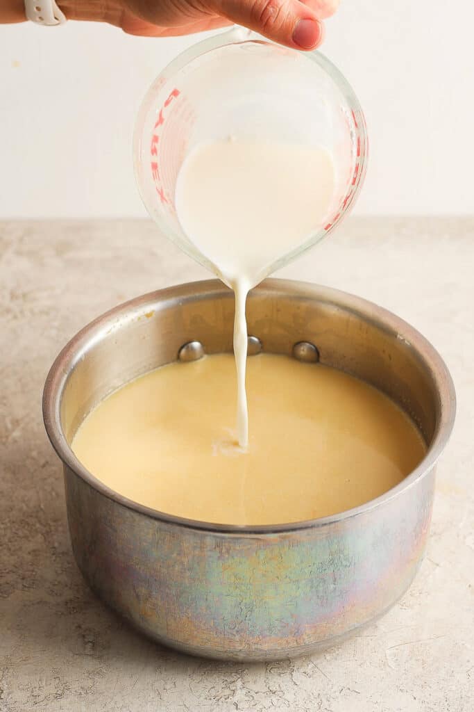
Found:
[{"label": "thumb with bare nail gripping the top of the glass cup", "polygon": [[299,0],[212,0],[212,10],[287,47],[313,49],[323,40],[323,23]]}]

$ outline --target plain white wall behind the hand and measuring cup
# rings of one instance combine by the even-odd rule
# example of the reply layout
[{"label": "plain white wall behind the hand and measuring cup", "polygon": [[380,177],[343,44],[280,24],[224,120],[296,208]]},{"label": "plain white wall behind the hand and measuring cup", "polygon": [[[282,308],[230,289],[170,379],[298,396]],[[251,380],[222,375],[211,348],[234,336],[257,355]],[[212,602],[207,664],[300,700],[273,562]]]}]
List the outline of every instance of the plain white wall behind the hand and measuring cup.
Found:
[{"label": "plain white wall behind the hand and measuring cup", "polygon": [[[370,131],[359,214],[474,213],[474,4],[343,0],[323,51]],[[0,26],[0,218],[142,216],[131,133],[156,74],[195,38]]]}]

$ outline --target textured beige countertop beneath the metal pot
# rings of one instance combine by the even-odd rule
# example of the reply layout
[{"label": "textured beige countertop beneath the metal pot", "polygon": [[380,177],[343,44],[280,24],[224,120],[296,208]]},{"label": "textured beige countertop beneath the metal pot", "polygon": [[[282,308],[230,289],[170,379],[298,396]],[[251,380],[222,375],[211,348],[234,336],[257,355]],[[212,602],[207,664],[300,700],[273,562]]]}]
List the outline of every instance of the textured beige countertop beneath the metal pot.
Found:
[{"label": "textured beige countertop beneath the metal pot", "polygon": [[43,431],[45,375],[107,308],[206,276],[148,222],[0,223],[0,711],[470,712],[474,219],[353,219],[284,271],[396,312],[453,374],[428,551],[399,604],[323,654],[246,666],[163,649],[88,590]]}]

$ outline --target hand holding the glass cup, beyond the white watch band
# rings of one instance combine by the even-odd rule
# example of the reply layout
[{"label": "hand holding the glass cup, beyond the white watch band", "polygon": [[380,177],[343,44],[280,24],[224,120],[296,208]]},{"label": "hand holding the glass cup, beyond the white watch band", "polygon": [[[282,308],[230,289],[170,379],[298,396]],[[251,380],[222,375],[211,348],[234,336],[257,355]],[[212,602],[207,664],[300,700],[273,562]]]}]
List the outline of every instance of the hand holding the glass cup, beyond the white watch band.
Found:
[{"label": "hand holding the glass cup, beyond the white watch band", "polygon": [[313,49],[339,0],[57,0],[71,20],[108,22],[131,35],[170,37],[239,24],[288,47]]}]

